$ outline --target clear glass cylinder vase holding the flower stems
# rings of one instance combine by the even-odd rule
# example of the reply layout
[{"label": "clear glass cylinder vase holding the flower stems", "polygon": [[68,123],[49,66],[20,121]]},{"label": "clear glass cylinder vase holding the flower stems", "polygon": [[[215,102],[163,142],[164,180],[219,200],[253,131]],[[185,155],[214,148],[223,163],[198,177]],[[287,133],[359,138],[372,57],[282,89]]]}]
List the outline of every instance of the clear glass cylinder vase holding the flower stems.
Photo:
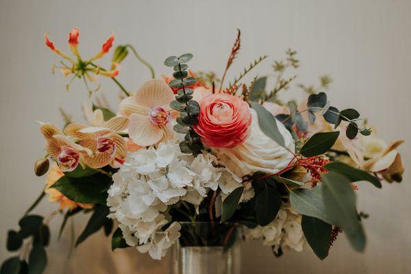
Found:
[{"label": "clear glass cylinder vase holding the flower stems", "polygon": [[242,227],[229,223],[180,223],[173,246],[172,274],[240,273]]}]

